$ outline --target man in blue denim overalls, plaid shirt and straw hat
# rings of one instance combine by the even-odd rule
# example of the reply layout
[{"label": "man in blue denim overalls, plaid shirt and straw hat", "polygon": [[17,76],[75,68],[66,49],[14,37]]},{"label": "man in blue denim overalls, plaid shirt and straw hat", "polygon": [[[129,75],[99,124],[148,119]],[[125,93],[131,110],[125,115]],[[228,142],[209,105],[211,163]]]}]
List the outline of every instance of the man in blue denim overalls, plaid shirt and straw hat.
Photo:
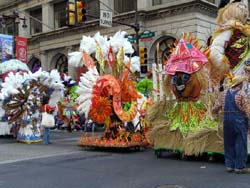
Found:
[{"label": "man in blue denim overalls, plaid shirt and straw hat", "polygon": [[212,109],[214,114],[224,113],[224,158],[227,172],[249,173],[247,162],[248,119],[250,99],[242,89],[244,76],[235,76],[217,99]]}]

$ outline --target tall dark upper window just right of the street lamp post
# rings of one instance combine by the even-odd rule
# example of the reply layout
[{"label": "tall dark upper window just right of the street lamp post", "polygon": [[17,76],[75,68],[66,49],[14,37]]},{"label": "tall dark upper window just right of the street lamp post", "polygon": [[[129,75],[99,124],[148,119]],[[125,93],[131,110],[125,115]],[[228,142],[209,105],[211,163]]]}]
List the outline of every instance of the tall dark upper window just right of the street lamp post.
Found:
[{"label": "tall dark upper window just right of the street lamp post", "polygon": [[30,11],[31,35],[42,32],[42,8]]}]

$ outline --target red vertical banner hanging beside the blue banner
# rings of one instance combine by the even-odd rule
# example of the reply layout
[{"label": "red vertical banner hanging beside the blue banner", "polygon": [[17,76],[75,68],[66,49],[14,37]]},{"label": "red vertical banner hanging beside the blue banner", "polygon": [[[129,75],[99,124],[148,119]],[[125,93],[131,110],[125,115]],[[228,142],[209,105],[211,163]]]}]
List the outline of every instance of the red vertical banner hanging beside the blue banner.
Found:
[{"label": "red vertical banner hanging beside the blue banner", "polygon": [[27,63],[27,38],[16,37],[16,58]]}]

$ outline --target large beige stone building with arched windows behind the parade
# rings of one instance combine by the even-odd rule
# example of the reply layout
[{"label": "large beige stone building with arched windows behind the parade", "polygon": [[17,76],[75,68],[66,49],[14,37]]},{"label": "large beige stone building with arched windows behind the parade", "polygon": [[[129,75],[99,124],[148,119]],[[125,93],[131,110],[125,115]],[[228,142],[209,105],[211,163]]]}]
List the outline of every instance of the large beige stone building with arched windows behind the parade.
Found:
[{"label": "large beige stone building with arched windows behind the parade", "polygon": [[[204,43],[216,27],[215,18],[219,0],[85,0],[86,21],[68,26],[65,0],[2,0],[0,15],[15,14],[22,20],[0,22],[0,33],[28,38],[28,65],[45,70],[58,69],[76,76],[68,66],[68,53],[79,49],[82,35],[113,35],[118,30],[128,33],[136,48],[135,26],[139,24],[139,47],[147,53],[145,63],[166,60],[171,44],[183,32],[191,32]],[[137,2],[137,4],[136,4]],[[99,25],[100,10],[112,11],[113,26]],[[135,16],[137,15],[137,16]],[[1,20],[0,20],[1,21]],[[117,24],[122,22],[127,24]],[[14,24],[13,24],[14,23]],[[16,27],[13,27],[15,25]],[[14,31],[13,28],[18,28]],[[157,44],[158,47],[157,47]],[[144,70],[146,72],[147,70]]]}]

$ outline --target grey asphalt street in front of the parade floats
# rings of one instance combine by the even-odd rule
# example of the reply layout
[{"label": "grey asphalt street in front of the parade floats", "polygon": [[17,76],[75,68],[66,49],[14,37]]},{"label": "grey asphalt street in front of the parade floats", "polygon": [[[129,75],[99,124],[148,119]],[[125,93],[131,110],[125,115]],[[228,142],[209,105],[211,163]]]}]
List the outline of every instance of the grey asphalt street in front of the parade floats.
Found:
[{"label": "grey asphalt street in front of the parade floats", "polygon": [[47,146],[0,138],[0,188],[250,188],[249,175],[225,172],[220,158],[86,151],[76,144],[82,132],[51,134]]}]

